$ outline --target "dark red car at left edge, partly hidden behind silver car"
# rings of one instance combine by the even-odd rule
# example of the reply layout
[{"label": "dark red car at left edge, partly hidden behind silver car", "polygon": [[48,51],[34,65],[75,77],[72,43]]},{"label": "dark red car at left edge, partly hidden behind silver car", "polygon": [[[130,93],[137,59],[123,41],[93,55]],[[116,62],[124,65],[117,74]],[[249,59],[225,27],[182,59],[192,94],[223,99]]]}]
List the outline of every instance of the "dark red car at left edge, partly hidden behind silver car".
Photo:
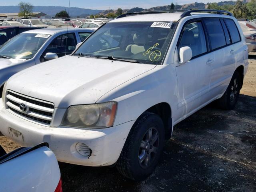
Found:
[{"label": "dark red car at left edge, partly hidden behind silver car", "polygon": [[22,26],[0,26],[0,46],[14,36],[37,27],[22,27]]}]

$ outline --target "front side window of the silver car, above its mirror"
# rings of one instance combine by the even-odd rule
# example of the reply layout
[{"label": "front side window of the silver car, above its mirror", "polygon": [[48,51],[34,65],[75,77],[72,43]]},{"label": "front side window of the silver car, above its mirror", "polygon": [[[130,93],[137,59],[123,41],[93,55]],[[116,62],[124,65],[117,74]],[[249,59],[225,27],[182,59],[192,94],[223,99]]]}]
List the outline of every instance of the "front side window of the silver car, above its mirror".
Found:
[{"label": "front side window of the silver car, above its mirror", "polygon": [[[68,34],[63,34],[60,35],[46,48],[42,56],[45,56],[46,53],[56,53],[58,57],[62,57],[68,54],[71,54],[76,48],[76,38],[74,33],[68,33]],[[41,62],[44,61],[44,58],[40,58]]]}]

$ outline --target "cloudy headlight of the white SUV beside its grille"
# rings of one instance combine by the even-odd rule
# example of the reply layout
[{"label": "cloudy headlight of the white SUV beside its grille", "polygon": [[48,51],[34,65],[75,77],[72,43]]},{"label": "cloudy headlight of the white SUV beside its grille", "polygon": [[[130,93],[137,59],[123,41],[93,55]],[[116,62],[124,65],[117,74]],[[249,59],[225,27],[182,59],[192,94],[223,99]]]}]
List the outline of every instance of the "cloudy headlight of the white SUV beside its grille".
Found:
[{"label": "cloudy headlight of the white SUV beside its grille", "polygon": [[84,128],[107,128],[113,126],[116,116],[117,103],[114,101],[70,106],[64,118],[62,125]]}]

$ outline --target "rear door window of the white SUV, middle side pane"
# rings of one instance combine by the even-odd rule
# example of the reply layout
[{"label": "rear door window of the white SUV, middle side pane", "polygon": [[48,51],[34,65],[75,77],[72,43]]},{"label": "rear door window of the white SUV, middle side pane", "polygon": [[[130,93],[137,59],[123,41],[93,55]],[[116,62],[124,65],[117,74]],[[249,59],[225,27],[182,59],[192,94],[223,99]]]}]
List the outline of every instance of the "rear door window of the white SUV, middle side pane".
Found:
[{"label": "rear door window of the white SUV, middle side pane", "polygon": [[226,38],[219,19],[205,19],[212,50],[226,45]]}]

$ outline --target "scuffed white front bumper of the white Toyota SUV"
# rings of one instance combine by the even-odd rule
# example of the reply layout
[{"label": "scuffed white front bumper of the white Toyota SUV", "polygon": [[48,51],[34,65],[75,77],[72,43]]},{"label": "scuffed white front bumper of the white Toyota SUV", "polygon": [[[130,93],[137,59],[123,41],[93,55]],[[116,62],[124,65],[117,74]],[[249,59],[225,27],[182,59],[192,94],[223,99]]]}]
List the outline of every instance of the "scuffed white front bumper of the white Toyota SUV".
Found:
[{"label": "scuffed white front bumper of the white Toyota SUV", "polygon": [[[105,129],[82,129],[65,126],[46,127],[34,124],[8,112],[0,101],[0,131],[21,146],[48,142],[58,161],[85,166],[114,164],[134,121]],[[76,150],[77,143],[91,149],[88,157]]]}]

